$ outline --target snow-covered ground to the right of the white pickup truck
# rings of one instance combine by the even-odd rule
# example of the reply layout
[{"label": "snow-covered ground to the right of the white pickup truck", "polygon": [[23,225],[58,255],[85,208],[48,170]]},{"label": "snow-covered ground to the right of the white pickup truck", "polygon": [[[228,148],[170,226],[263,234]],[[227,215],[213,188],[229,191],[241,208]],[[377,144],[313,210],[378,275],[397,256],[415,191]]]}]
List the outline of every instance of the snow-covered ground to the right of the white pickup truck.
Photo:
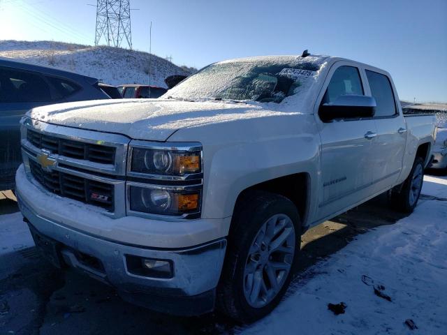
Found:
[{"label": "snow-covered ground to the right of the white pickup truck", "polygon": [[[447,198],[447,177],[425,177],[423,193]],[[447,334],[446,278],[447,201],[421,200],[410,216],[360,235],[309,269],[276,310],[242,330],[282,335]],[[375,295],[374,285],[383,285],[381,292],[391,301]],[[347,305],[344,314],[328,310],[328,303],[342,301]],[[404,325],[407,319],[418,329]]]}]

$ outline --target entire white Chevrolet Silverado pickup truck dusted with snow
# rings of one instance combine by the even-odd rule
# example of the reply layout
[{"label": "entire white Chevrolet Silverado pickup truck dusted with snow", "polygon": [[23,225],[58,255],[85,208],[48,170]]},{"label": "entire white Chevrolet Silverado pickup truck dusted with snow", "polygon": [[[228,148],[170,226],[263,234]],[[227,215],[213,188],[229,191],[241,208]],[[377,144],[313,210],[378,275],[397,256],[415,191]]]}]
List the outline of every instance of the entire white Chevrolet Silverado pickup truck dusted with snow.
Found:
[{"label": "entire white Chevrolet Silverado pickup truck dusted with snow", "polygon": [[54,264],[148,308],[251,322],[283,297],[309,227],[387,191],[414,209],[433,134],[379,68],[222,61],[160,99],[29,111],[17,199]]}]

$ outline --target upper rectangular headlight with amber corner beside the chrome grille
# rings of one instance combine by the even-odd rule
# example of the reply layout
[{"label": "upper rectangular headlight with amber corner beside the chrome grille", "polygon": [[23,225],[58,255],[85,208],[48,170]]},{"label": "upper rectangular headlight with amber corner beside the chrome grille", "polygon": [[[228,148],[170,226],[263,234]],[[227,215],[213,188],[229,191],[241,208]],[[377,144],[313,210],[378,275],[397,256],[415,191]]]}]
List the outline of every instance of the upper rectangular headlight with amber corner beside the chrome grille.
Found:
[{"label": "upper rectangular headlight with amber corner beside the chrome grille", "polygon": [[151,148],[131,147],[130,174],[184,176],[202,171],[200,147]]}]

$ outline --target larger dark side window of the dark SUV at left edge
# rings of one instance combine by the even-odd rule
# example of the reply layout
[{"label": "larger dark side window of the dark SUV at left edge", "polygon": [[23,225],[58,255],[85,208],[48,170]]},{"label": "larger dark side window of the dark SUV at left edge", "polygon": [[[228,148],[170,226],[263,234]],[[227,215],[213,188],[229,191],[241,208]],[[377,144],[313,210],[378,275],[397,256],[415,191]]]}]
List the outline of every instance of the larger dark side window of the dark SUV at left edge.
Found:
[{"label": "larger dark side window of the dark SUV at left edge", "polygon": [[52,101],[50,86],[31,71],[0,67],[0,103]]}]

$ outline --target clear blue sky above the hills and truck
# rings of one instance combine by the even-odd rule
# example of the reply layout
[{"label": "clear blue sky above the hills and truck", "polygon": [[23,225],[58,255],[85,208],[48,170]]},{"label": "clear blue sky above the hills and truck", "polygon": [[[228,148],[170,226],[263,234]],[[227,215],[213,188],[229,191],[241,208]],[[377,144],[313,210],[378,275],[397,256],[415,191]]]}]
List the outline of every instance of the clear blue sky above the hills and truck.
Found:
[{"label": "clear blue sky above the hills and truck", "polygon": [[[0,38],[94,44],[95,0],[0,0]],[[447,0],[131,0],[137,50],[198,68],[330,54],[388,70],[401,99],[447,101]]]}]

